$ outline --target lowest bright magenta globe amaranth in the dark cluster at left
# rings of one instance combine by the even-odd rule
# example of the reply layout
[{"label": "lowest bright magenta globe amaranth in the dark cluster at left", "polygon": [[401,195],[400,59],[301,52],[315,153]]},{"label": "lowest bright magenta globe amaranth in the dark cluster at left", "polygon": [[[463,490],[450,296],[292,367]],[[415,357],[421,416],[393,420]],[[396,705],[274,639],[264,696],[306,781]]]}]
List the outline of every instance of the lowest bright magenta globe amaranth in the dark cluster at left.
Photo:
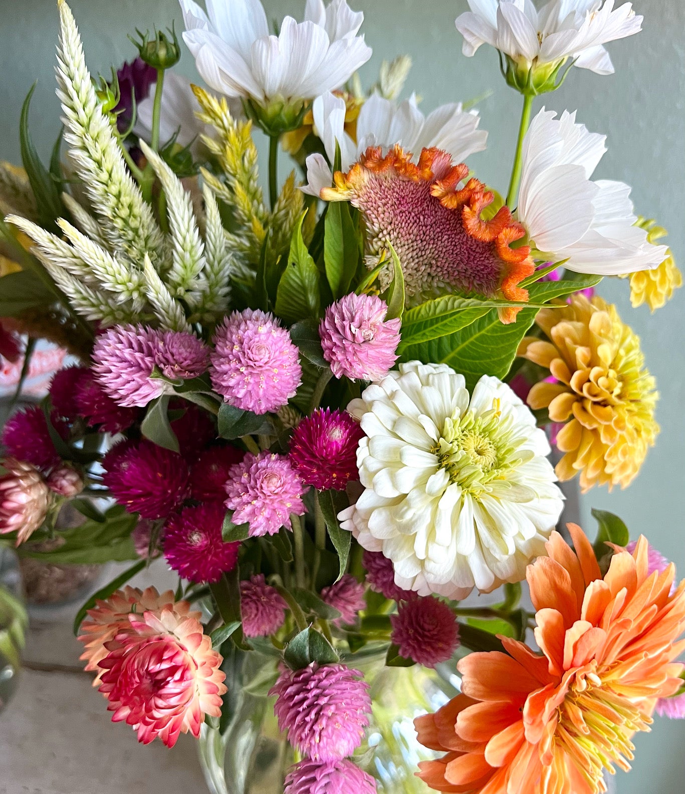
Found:
[{"label": "lowest bright magenta globe amaranth in the dark cluster at left", "polygon": [[184,507],[164,526],[164,557],[183,579],[207,584],[217,582],[238,561],[240,543],[221,538],[225,510],[218,502]]}]

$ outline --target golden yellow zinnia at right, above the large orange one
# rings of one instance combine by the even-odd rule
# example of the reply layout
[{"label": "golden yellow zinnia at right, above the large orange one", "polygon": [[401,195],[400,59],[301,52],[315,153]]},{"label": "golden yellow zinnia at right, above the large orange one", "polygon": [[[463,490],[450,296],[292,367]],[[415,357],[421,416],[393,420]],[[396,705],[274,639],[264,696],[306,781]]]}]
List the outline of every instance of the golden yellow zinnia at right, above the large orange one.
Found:
[{"label": "golden yellow zinnia at right, above the large orange one", "polygon": [[560,480],[580,472],[580,487],[629,485],[654,445],[657,394],[645,369],[640,340],[610,306],[595,296],[574,295],[569,306],[543,309],[537,325],[548,340],[527,337],[519,355],[549,368],[556,383],[535,384],[533,409],[547,408],[552,422],[566,422],[556,445]]}]

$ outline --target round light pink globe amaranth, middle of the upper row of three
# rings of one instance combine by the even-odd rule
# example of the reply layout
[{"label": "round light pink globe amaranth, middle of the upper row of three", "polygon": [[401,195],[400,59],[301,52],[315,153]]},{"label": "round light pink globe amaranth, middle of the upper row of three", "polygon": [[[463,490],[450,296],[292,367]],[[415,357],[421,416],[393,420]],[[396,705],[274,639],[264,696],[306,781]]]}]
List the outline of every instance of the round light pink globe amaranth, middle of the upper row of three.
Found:
[{"label": "round light pink globe amaranth, middle of the upper row of three", "polygon": [[282,408],[302,382],[298,349],[273,314],[234,311],[214,333],[210,374],[228,403],[266,414]]}]

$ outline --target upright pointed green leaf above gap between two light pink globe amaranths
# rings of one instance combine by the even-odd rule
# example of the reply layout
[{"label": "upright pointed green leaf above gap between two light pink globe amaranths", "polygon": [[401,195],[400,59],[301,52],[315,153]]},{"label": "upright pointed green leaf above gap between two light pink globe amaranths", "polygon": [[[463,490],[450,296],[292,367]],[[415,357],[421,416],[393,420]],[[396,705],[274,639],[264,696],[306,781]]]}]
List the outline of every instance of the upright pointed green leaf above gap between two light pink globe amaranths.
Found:
[{"label": "upright pointed green leaf above gap between two light pink globe amaranths", "polygon": [[320,310],[319,279],[321,276],[302,240],[302,213],[291,240],[288,264],[276,292],[275,313],[290,325],[302,318],[317,318]]}]

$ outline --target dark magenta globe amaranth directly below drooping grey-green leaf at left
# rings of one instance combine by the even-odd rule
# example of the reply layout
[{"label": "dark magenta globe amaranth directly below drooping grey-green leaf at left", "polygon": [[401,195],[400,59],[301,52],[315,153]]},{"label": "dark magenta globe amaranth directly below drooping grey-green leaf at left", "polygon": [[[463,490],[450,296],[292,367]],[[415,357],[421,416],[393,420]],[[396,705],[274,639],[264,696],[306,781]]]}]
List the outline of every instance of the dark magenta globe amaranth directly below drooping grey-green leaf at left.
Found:
[{"label": "dark magenta globe amaranth directly below drooping grey-green leaf at left", "polygon": [[187,497],[186,461],[147,439],[114,445],[102,467],[102,482],[114,499],[142,518],[166,518]]}]

